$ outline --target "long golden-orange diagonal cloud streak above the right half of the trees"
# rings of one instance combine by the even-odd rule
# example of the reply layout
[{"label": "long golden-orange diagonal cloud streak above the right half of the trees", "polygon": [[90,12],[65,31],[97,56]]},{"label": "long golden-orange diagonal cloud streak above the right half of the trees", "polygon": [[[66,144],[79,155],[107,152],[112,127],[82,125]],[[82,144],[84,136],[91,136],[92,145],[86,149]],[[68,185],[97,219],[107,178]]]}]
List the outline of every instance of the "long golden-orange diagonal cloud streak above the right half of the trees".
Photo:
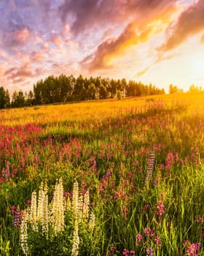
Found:
[{"label": "long golden-orange diagonal cloud streak above the right half of the trees", "polygon": [[[130,2],[132,4],[135,3],[135,1]],[[147,2],[150,2],[150,6]],[[109,38],[103,41],[98,45],[95,53],[85,57],[81,63],[82,67],[87,67],[90,71],[112,68],[111,60],[114,57],[122,55],[127,48],[146,42],[153,34],[159,33],[162,23],[169,22],[172,13],[176,11],[176,1],[139,0],[137,4],[135,6],[136,10],[138,10],[140,15],[145,15],[146,19],[133,20],[125,27],[119,37]],[[130,12],[130,6],[128,8]],[[157,28],[157,22],[160,22],[161,28],[159,29]]]}]

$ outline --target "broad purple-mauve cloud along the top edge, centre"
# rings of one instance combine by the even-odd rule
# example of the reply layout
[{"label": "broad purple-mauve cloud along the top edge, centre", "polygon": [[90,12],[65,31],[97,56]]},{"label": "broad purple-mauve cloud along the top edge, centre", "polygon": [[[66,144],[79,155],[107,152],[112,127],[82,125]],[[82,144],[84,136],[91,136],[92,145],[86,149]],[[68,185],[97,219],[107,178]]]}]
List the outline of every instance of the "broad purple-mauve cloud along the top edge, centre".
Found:
[{"label": "broad purple-mauve cloud along the top edge, centre", "polygon": [[[76,36],[97,27],[109,29],[116,23],[127,24],[133,20],[151,18],[157,11],[170,8],[177,0],[70,0],[64,1],[59,15],[71,23]],[[108,26],[108,28],[106,28]]]}]

